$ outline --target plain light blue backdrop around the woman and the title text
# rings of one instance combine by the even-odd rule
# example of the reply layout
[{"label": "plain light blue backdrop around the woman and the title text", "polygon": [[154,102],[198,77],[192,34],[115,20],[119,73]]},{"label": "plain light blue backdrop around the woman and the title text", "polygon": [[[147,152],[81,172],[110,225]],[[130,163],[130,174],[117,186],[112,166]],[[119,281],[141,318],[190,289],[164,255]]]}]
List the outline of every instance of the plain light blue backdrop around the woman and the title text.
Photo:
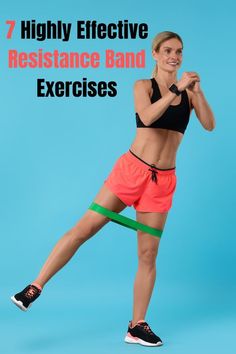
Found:
[{"label": "plain light blue backdrop around the woman and the title text", "polygon": [[[2,353],[141,353],[123,342],[132,317],[137,241],[109,223],[46,285],[29,312],[9,297],[35,279],[56,241],[81,218],[135,137],[133,83],[153,69],[151,41],[184,41],[183,71],[196,71],[217,125],[196,116],[177,158],[178,186],[157,258],[147,321],[168,353],[235,352],[235,5],[233,1],[9,1],[1,5]],[[6,20],[16,20],[11,40]],[[145,22],[146,40],[20,40],[36,19]],[[75,27],[74,27],[75,29]],[[74,33],[75,31],[73,31]],[[8,49],[146,50],[145,69],[32,70],[7,67]],[[36,97],[36,79],[114,80],[115,98]],[[127,208],[124,215],[135,217]]]}]

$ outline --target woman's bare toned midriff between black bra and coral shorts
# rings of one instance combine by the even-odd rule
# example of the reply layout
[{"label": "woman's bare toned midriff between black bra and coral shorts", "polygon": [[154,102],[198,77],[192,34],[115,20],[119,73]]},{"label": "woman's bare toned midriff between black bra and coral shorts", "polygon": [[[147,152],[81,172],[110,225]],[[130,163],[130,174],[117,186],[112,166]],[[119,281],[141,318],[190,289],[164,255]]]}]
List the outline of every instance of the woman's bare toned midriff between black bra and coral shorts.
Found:
[{"label": "woman's bare toned midriff between black bra and coral shorts", "polygon": [[137,128],[130,150],[147,163],[157,168],[176,166],[176,153],[183,134],[159,128]]}]

